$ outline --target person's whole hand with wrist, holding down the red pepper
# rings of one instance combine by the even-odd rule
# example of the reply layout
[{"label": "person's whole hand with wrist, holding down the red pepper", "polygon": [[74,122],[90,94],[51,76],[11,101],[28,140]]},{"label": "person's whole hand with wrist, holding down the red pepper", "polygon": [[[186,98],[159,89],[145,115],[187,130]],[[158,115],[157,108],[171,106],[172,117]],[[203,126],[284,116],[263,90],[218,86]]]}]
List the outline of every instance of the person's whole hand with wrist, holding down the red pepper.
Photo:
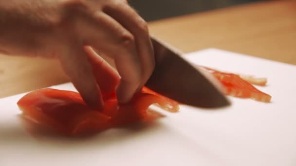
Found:
[{"label": "person's whole hand with wrist, holding down the red pepper", "polygon": [[[126,0],[0,0],[1,13],[0,50],[59,59],[93,107],[115,86],[129,101],[154,69],[147,24]],[[120,77],[92,48],[114,60]]]}]

